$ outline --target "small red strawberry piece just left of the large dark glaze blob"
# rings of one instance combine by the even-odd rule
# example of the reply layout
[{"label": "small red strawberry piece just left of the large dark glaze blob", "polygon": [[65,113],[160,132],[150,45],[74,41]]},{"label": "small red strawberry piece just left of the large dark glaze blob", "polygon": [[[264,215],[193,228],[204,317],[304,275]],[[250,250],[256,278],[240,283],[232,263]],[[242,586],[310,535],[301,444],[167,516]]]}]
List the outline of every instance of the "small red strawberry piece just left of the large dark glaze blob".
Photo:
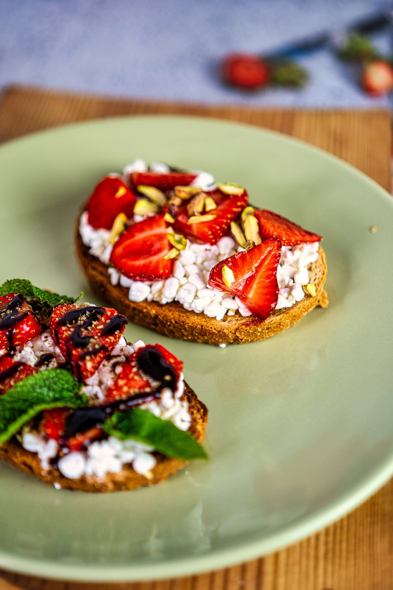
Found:
[{"label": "small red strawberry piece just left of the large dark glaze blob", "polygon": [[123,364],[113,385],[107,389],[105,399],[127,399],[136,394],[153,392],[153,381],[147,375],[142,375],[137,363],[137,353],[134,352]]}]

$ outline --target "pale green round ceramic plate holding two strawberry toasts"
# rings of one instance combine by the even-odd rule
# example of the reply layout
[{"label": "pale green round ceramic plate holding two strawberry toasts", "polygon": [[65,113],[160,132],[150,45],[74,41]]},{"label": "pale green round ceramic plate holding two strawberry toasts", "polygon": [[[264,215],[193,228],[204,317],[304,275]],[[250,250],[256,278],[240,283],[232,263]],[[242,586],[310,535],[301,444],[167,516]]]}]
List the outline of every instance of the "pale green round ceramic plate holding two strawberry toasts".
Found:
[{"label": "pale green round ceramic plate holding two strawberry toasts", "polygon": [[[0,567],[86,581],[220,568],[272,552],[353,509],[393,473],[393,201],[303,143],[186,117],[101,120],[0,148],[0,281],[100,303],[75,261],[80,205],[136,157],[212,171],[324,237],[327,310],[226,349],[128,326],[184,359],[209,407],[209,463],[152,489],[56,491],[0,464]],[[372,233],[370,227],[378,226]]]}]

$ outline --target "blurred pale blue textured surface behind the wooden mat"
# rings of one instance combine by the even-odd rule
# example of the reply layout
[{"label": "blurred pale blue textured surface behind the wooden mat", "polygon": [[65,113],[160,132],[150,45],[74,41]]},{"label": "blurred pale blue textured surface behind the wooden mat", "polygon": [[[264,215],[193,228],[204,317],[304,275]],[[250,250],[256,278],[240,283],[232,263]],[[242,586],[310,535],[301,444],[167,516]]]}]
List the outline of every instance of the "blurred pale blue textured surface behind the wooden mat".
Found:
[{"label": "blurred pale blue textured surface behind the wooden mat", "polygon": [[[305,107],[389,106],[365,96],[328,49],[300,63],[300,90],[243,94],[220,84],[231,51],[263,53],[384,8],[380,0],[0,0],[0,87],[10,83],[123,97]],[[375,35],[391,51],[391,30]]]}]

